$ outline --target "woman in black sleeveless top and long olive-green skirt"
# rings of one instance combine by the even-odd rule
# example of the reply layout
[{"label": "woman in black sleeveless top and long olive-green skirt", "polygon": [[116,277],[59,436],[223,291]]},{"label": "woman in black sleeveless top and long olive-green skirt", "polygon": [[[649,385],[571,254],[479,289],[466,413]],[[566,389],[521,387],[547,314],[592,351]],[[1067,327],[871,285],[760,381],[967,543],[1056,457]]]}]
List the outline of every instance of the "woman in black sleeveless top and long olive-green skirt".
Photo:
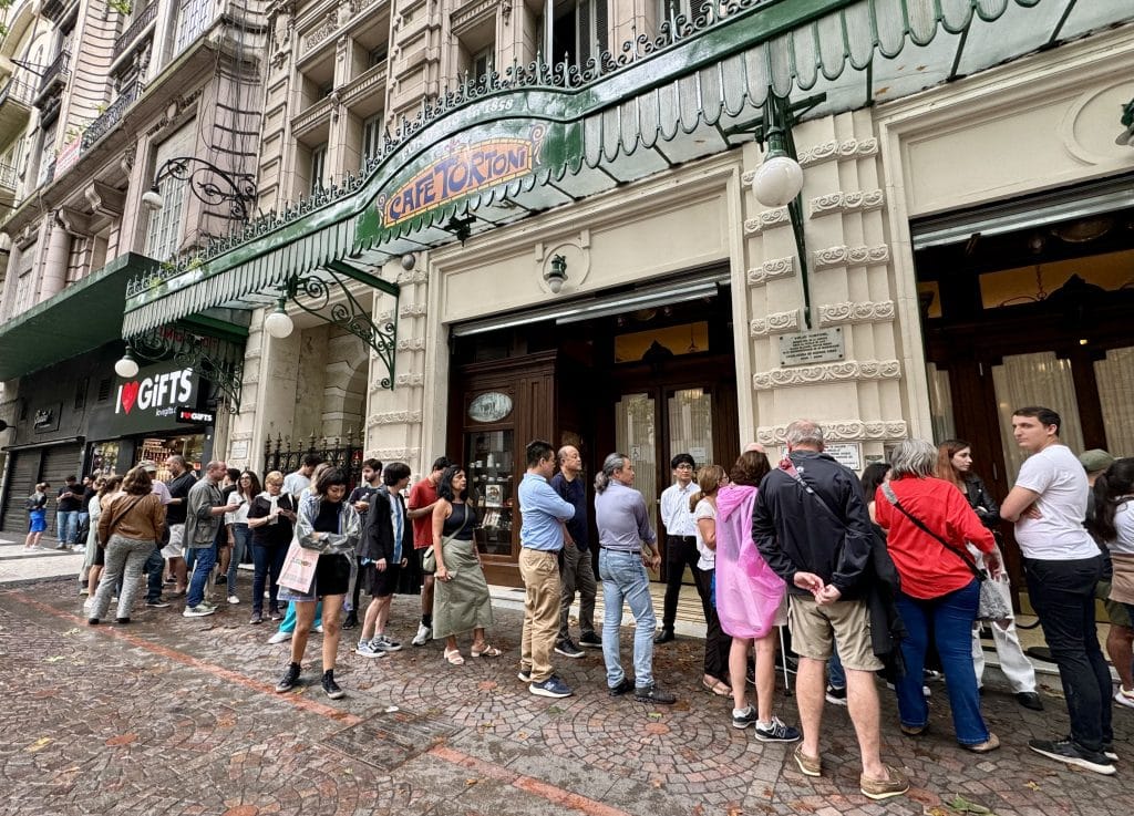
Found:
[{"label": "woman in black sleeveless top and long olive-green skirt", "polygon": [[457,635],[473,632],[473,657],[499,657],[484,639],[492,626],[492,598],[473,542],[476,510],[468,503],[468,477],[460,465],[450,465],[437,485],[433,507],[433,554],[437,558],[433,595],[433,637],[445,638],[445,660],[464,665]]}]

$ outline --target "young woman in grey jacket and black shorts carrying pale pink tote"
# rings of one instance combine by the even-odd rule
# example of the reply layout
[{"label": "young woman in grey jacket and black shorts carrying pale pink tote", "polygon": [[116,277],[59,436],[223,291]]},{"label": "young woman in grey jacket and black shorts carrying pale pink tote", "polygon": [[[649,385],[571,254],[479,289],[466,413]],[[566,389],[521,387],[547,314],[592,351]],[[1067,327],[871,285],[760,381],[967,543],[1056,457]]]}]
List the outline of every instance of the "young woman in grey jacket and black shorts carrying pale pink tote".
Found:
[{"label": "young woman in grey jacket and black shorts carrying pale pink tote", "polygon": [[307,636],[315,622],[315,607],[323,604],[323,691],[331,699],[346,692],[335,682],[335,658],[341,634],[342,598],[350,588],[355,569],[355,546],[362,536],[358,513],[346,501],[347,477],[338,468],[323,470],[299,499],[296,535],[304,550],[319,553],[315,576],[306,592],[284,588],[281,601],[295,609],[295,634],[291,636],[291,662],[287,673],[276,683],[279,692],[290,691],[299,682],[299,663],[307,648]]}]

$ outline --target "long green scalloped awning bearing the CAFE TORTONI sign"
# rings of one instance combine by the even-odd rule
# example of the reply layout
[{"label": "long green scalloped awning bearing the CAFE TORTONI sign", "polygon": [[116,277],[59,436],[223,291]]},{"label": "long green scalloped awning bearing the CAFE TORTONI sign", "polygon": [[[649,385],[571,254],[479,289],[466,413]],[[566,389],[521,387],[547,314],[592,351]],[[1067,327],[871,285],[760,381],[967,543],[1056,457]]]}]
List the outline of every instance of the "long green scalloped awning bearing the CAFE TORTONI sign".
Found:
[{"label": "long green scalloped awning bearing the CAFE TORTONI sign", "polygon": [[583,70],[513,66],[423,103],[361,175],[132,281],[122,335],[720,153],[769,94],[821,97],[804,118],[827,116],[1132,19],[1129,0],[713,0]]}]

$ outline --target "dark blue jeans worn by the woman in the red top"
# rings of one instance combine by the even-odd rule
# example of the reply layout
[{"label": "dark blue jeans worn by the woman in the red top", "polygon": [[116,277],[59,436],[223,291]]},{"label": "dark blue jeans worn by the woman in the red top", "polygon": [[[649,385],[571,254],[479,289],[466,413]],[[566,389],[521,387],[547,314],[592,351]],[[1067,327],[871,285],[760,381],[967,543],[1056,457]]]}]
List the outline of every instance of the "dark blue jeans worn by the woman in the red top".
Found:
[{"label": "dark blue jeans worn by the woman in the red top", "polygon": [[960,589],[929,601],[904,593],[898,595],[898,612],[909,631],[909,637],[902,641],[906,673],[895,683],[903,725],[922,728],[929,723],[929,702],[922,695],[922,670],[932,626],[957,741],[979,745],[988,740],[989,729],[981,716],[972,652],[973,621],[980,596],[981,585],[975,578]]}]

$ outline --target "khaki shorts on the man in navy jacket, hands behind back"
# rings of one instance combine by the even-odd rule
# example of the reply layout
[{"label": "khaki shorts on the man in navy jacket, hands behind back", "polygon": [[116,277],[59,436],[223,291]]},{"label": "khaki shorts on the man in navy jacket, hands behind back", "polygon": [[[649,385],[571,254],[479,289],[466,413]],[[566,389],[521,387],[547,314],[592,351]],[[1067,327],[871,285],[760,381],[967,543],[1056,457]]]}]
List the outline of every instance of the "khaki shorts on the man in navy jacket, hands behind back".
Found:
[{"label": "khaki shorts on the man in navy jacket, hands behind back", "polygon": [[870,611],[865,601],[837,601],[820,606],[814,598],[789,596],[788,626],[792,648],[801,657],[827,661],[838,644],[845,669],[877,671],[882,661],[874,656],[870,639]]}]

